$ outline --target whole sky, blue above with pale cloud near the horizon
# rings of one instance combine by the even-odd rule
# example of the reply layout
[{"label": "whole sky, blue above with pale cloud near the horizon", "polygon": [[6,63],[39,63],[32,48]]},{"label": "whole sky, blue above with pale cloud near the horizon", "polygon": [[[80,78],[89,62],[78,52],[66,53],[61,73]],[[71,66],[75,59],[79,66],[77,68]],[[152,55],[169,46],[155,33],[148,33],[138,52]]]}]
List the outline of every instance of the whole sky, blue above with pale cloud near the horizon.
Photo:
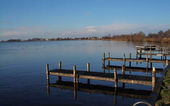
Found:
[{"label": "whole sky, blue above with pale cloud near the horizon", "polygon": [[0,40],[170,28],[170,0],[0,0]]}]

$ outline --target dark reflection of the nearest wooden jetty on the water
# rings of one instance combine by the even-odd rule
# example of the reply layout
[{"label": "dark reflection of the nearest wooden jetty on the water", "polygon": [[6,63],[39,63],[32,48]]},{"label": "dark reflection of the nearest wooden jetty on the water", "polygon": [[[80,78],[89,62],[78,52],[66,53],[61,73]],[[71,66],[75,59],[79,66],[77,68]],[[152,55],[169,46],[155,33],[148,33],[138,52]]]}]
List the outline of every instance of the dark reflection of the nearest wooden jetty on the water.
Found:
[{"label": "dark reflection of the nearest wooden jetty on the water", "polygon": [[[93,84],[83,84],[79,83],[78,88],[76,88],[75,83],[70,81],[56,81],[56,83],[50,83],[48,86],[48,95],[50,94],[50,88],[55,87],[59,89],[68,89],[68,90],[76,90],[81,92],[88,92],[88,93],[100,93],[105,95],[114,95],[114,96],[122,96],[128,98],[137,98],[137,99],[145,99],[150,100],[150,96],[152,91],[150,90],[135,90],[130,88],[122,88],[122,87],[109,87],[104,85],[93,85]],[[76,99],[77,94],[74,94],[74,98]]]}]

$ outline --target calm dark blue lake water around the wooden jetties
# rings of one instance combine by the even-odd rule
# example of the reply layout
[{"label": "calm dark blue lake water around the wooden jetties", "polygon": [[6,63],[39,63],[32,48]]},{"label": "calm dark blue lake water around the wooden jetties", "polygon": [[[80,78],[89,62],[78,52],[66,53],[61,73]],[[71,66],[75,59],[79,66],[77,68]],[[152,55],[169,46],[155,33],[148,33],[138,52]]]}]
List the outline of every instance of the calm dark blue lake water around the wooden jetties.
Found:
[{"label": "calm dark blue lake water around the wooden jetties", "polygon": [[[86,70],[86,63],[91,65],[91,71],[103,72],[103,53],[111,53],[111,57],[135,57],[135,44],[115,41],[51,41],[51,42],[11,42],[0,43],[0,105],[129,105],[137,101],[150,101],[128,94],[116,95],[103,93],[88,93],[77,91],[77,99],[74,98],[74,91],[50,87],[47,95],[47,82],[45,65],[49,64],[50,69],[58,68],[58,62],[62,61],[62,68],[72,69],[76,65],[79,70]],[[121,62],[111,62],[114,65],[121,65]],[[136,66],[136,63],[132,63]],[[145,64],[137,64],[145,66]],[[162,65],[153,64],[156,67]],[[106,70],[106,72],[108,72]],[[118,73],[121,73],[118,71]],[[129,74],[129,72],[126,72]],[[134,75],[145,75],[143,72],[132,72]],[[151,76],[148,73],[148,76]],[[161,76],[157,74],[157,76]],[[51,83],[55,83],[56,76],[50,77]],[[63,78],[63,81],[72,81],[72,78]],[[87,80],[80,80],[86,84]],[[91,81],[93,85],[114,87],[112,82]],[[118,84],[121,89],[122,84]],[[97,87],[98,88],[98,87]],[[100,88],[100,87],[99,87]],[[137,91],[142,95],[142,90],[151,91],[151,86],[126,84],[124,88]],[[128,93],[127,90],[127,93]],[[113,89],[114,91],[114,89]],[[143,91],[144,92],[144,91]],[[119,95],[120,94],[120,95]],[[123,96],[122,96],[123,95]],[[148,97],[150,95],[148,94]]]}]

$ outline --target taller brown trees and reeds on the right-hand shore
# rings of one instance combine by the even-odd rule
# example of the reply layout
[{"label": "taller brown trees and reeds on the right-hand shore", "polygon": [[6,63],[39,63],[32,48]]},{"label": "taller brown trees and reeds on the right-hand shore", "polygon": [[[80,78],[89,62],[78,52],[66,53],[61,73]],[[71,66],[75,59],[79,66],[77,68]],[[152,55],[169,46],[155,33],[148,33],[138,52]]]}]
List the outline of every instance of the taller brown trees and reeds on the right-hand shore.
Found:
[{"label": "taller brown trees and reeds on the right-hand shore", "polygon": [[121,34],[113,35],[110,34],[102,37],[103,40],[117,40],[117,41],[133,41],[133,42],[159,42],[159,43],[170,43],[170,29],[167,31],[159,31],[158,33],[149,33],[145,35],[143,32],[137,32],[133,34]]}]

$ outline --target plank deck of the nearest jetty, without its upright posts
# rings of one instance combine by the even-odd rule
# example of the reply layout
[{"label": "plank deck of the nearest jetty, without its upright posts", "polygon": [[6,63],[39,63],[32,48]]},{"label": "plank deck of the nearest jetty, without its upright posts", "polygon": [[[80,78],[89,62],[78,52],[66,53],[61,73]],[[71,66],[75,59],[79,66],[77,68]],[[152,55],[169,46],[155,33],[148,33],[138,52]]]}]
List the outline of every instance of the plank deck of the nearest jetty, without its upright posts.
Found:
[{"label": "plank deck of the nearest jetty, without its upright posts", "polygon": [[[66,70],[66,69],[55,69],[49,71],[49,75],[56,75],[56,76],[64,76],[64,77],[72,77],[73,70]],[[120,83],[130,83],[130,84],[142,84],[142,85],[150,85],[152,86],[152,78],[148,76],[136,76],[136,75],[122,75],[117,74],[117,80],[114,78],[114,73],[103,73],[103,72],[87,72],[87,71],[79,71],[76,70],[76,76],[78,80],[79,78],[82,79],[91,79],[91,80],[102,80],[102,81],[111,81],[111,82],[120,82]],[[156,78],[157,80],[157,78]]]}]

